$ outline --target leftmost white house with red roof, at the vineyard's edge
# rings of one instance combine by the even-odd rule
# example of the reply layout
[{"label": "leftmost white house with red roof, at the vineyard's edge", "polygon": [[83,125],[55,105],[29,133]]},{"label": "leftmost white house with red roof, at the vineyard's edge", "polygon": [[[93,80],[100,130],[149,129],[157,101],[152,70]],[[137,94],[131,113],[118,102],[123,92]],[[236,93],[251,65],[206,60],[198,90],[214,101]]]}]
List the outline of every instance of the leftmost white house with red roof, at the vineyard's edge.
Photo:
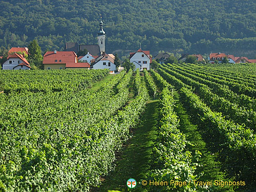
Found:
[{"label": "leftmost white house with red roof, at the vineyard's edge", "polygon": [[30,70],[30,64],[24,54],[11,54],[3,63],[4,70]]}]

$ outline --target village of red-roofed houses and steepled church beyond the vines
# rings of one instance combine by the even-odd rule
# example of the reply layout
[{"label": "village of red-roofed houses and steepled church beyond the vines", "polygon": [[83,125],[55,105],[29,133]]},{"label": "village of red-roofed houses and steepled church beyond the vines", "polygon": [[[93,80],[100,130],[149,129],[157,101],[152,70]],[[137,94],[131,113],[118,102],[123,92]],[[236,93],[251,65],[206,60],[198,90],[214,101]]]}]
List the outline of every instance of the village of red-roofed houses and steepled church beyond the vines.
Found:
[{"label": "village of red-roofed houses and steepled church beyond the vines", "polygon": [[[80,45],[79,42],[66,42],[65,51],[47,51],[42,60],[44,70],[63,70],[63,69],[109,69],[110,72],[120,72],[124,67],[115,62],[116,56],[105,52],[106,33],[103,30],[103,22],[100,19],[98,31],[98,45]],[[134,48],[133,48],[134,49]],[[78,52],[87,51],[87,54],[78,56]],[[31,66],[27,60],[29,49],[27,47],[12,47],[8,51],[7,60],[3,62],[3,70],[30,70]],[[142,50],[141,47],[131,52],[129,56],[130,63],[134,64],[134,70],[150,70],[153,60],[160,64],[168,62],[169,53],[158,53],[152,56],[150,51]],[[188,58],[193,57],[195,62],[209,63],[256,63],[256,59],[247,57],[236,57],[225,53],[210,53],[205,59],[201,54],[182,54],[179,62],[189,62]],[[0,56],[3,59],[3,56]],[[118,58],[119,59],[119,58]],[[190,61],[193,62],[193,61]],[[131,64],[132,65],[132,64]]]}]

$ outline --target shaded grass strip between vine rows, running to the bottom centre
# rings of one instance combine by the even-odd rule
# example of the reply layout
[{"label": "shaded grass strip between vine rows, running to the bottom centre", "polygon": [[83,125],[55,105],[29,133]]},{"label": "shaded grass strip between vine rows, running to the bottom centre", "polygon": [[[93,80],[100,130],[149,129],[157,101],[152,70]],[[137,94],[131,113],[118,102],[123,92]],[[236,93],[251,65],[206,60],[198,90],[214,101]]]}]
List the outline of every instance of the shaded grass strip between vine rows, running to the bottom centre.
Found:
[{"label": "shaded grass strip between vine rows, running to the bottom centre", "polygon": [[[101,186],[92,191],[120,190],[128,191],[126,181],[134,178],[137,182],[145,178],[151,166],[152,148],[157,138],[158,100],[151,100],[146,105],[141,122],[132,132],[132,138],[117,154],[116,168],[103,178]],[[133,191],[146,191],[144,188]]]}]

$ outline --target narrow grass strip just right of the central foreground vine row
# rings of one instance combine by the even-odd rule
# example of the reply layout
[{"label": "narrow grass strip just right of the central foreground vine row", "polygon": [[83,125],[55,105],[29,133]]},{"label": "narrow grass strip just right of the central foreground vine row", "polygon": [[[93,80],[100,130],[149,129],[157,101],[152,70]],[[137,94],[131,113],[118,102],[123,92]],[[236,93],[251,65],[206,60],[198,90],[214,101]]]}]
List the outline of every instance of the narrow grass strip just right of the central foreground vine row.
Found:
[{"label": "narrow grass strip just right of the central foreground vine row", "polygon": [[[179,129],[186,135],[186,140],[189,144],[188,150],[195,153],[196,150],[202,153],[202,157],[198,159],[198,163],[202,166],[196,171],[197,174],[204,173],[204,175],[199,179],[200,181],[210,181],[210,180],[223,180],[226,179],[225,174],[221,170],[220,162],[217,161],[218,154],[211,154],[209,149],[206,147],[206,143],[202,138],[200,131],[197,129],[197,125],[191,123],[190,116],[186,113],[183,104],[180,101],[180,95],[177,91],[174,92],[174,99],[176,101],[175,111],[180,119]],[[197,162],[194,159],[194,162]],[[233,191],[232,187],[219,187],[214,191]]]}]

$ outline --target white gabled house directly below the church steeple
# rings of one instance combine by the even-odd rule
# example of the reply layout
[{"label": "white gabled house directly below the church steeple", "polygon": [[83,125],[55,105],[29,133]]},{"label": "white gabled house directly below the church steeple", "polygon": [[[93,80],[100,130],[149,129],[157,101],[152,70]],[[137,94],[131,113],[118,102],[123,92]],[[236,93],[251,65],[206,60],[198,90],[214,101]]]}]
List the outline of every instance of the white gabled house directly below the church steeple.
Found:
[{"label": "white gabled house directly below the church steeple", "polygon": [[106,54],[103,52],[99,57],[92,60],[91,69],[109,69],[110,71],[116,70],[115,56],[113,54]]}]

